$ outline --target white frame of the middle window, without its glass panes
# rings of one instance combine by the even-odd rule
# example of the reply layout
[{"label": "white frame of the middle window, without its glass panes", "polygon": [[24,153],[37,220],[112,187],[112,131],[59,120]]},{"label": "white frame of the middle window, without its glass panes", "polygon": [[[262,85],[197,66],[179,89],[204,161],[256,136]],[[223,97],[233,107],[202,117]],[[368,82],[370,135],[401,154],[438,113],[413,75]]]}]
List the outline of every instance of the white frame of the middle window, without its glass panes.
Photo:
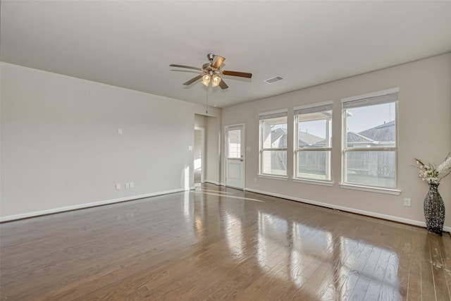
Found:
[{"label": "white frame of the middle window, without its glass panes", "polygon": [[[299,147],[299,117],[302,114],[307,113],[321,113],[325,111],[330,111],[330,120],[328,121],[329,128],[326,128],[326,140],[330,141],[329,147]],[[332,174],[332,139],[333,139],[333,101],[328,102],[318,102],[315,104],[307,104],[305,106],[296,106],[293,108],[294,114],[294,126],[293,126],[293,180],[295,182],[301,183],[317,183],[319,185],[333,185],[333,174]],[[323,120],[323,119],[319,119]],[[302,122],[302,121],[301,121]],[[299,152],[328,152],[328,171],[326,171],[326,179],[314,179],[314,178],[304,178],[299,177]],[[327,165],[327,164],[326,164]]]}]

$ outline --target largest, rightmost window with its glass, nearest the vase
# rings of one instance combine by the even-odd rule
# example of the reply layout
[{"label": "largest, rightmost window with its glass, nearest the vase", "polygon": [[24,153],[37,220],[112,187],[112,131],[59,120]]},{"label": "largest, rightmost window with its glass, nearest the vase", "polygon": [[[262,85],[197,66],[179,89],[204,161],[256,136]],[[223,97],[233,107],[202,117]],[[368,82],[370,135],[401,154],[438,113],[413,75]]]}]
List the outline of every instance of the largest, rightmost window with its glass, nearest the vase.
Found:
[{"label": "largest, rightmost window with its glass, nearest the vase", "polygon": [[343,183],[396,188],[398,92],[342,99]]}]

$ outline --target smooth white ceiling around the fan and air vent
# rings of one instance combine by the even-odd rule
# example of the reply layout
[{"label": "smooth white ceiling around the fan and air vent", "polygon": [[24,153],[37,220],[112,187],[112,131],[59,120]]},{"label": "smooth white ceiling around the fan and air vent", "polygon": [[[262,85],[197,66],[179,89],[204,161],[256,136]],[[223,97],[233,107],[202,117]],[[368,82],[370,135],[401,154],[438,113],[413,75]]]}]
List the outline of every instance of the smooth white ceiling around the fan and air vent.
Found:
[{"label": "smooth white ceiling around the fan and air vent", "polygon": [[[451,51],[451,1],[1,1],[0,59],[205,104],[195,70],[213,53],[218,107]],[[271,85],[265,79],[281,75]]]}]

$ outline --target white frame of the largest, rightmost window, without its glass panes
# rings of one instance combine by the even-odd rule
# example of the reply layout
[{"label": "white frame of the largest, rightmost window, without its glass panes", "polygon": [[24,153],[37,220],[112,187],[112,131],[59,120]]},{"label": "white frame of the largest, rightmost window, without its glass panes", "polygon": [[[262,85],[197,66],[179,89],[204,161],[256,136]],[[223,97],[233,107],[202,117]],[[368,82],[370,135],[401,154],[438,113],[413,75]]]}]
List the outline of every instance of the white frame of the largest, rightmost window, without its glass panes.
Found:
[{"label": "white frame of the largest, rightmost window, without its glass panes", "polygon": [[[341,99],[342,103],[342,164],[341,164],[341,183],[340,187],[366,190],[371,192],[383,192],[393,195],[400,195],[400,190],[398,189],[398,102],[399,102],[399,88],[393,88],[388,90],[383,90],[379,92],[373,92],[369,94],[362,94],[354,97],[347,97]],[[353,104],[352,104],[353,102]],[[378,104],[395,104],[395,147],[347,147],[347,114],[345,113],[347,109],[361,108],[364,106],[374,106]],[[351,107],[350,107],[351,106]],[[394,176],[394,187],[376,186],[376,185],[364,185],[359,183],[352,183],[347,181],[347,159],[346,154],[350,152],[395,152],[395,176]]]}]

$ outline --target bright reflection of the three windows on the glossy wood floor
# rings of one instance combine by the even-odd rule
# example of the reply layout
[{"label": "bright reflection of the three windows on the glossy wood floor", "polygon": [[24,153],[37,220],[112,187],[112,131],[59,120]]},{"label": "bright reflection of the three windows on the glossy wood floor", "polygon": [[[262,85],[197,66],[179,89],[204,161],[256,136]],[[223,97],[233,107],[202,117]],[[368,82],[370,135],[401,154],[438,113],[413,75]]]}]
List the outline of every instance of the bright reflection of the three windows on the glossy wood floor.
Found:
[{"label": "bright reflection of the three windows on the glossy wood floor", "polygon": [[[402,300],[395,252],[333,232],[259,213],[257,258],[269,274],[285,277],[323,300]],[[315,278],[315,281],[311,281]]]}]

